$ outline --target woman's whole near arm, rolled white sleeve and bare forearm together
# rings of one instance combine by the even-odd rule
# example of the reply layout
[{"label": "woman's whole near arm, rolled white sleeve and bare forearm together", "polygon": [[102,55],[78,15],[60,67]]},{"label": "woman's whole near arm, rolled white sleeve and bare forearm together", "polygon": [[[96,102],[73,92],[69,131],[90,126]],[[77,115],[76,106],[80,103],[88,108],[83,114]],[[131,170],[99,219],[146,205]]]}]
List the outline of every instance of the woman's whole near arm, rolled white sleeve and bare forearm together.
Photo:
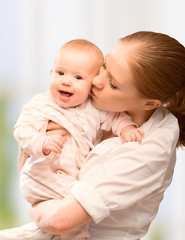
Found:
[{"label": "woman's whole near arm, rolled white sleeve and bare forearm together", "polygon": [[92,219],[98,223],[110,214],[118,222],[121,215],[134,223],[139,211],[144,219],[138,218],[138,226],[143,220],[150,224],[171,182],[175,163],[177,133],[173,121],[166,125],[162,129],[155,126],[142,145],[122,144],[119,138],[98,144],[82,166],[72,195],[32,207],[33,221],[60,234]]}]

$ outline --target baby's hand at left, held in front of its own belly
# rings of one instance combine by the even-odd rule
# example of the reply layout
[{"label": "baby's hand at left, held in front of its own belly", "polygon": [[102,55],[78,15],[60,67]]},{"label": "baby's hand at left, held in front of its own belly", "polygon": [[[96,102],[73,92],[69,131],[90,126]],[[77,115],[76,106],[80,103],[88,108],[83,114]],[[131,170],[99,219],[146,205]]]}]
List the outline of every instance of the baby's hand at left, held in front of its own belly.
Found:
[{"label": "baby's hand at left, held in front of its own belly", "polygon": [[42,152],[44,155],[48,155],[50,152],[61,153],[61,149],[65,143],[66,136],[50,135],[47,136],[42,146]]}]

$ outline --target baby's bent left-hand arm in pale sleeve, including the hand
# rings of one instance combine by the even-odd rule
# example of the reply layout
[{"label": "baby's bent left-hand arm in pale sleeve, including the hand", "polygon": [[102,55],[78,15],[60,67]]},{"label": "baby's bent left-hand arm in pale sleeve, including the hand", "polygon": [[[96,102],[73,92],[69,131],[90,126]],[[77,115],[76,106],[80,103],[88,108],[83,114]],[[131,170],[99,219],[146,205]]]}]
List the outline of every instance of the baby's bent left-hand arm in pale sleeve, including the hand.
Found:
[{"label": "baby's bent left-hand arm in pale sleeve, including the hand", "polygon": [[24,105],[17,123],[14,126],[14,136],[19,146],[29,156],[43,157],[51,151],[60,153],[64,144],[64,137],[59,134],[46,136],[44,128],[47,118],[43,111],[39,113],[39,104],[32,101]]}]

